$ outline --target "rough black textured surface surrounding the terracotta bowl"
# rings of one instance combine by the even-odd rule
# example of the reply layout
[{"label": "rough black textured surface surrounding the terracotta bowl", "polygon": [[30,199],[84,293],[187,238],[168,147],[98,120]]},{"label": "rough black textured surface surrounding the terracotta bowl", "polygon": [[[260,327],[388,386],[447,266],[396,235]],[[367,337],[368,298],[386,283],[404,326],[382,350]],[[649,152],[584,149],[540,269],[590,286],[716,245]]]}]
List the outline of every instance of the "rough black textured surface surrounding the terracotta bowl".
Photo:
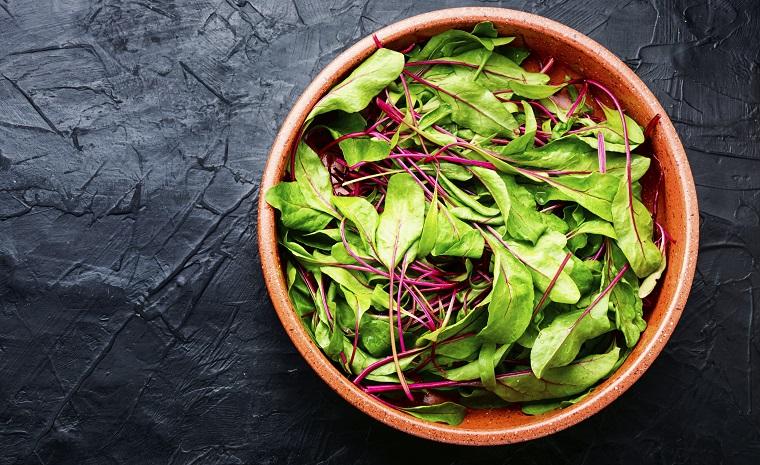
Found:
[{"label": "rough black textured surface surrounding the terracotta bowl", "polygon": [[[407,437],[301,360],[256,253],[266,153],[336,53],[505,6],[622,57],[689,152],[701,251],[647,374],[527,444]],[[760,463],[760,6],[0,0],[0,464]]]}]

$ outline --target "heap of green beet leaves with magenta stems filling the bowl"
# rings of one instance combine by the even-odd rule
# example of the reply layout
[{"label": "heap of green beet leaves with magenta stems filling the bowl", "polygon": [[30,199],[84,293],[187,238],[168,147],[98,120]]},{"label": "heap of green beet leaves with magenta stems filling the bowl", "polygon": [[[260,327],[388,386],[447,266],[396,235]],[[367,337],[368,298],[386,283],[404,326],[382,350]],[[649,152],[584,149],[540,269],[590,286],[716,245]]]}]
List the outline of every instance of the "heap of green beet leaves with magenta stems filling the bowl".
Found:
[{"label": "heap of green beet leaves with magenta stems filling the bowl", "polygon": [[657,118],[643,130],[491,23],[376,42],[266,192],[295,311],[357,386],[419,418],[577,402],[639,340],[665,269],[644,200],[659,181],[640,182]]}]

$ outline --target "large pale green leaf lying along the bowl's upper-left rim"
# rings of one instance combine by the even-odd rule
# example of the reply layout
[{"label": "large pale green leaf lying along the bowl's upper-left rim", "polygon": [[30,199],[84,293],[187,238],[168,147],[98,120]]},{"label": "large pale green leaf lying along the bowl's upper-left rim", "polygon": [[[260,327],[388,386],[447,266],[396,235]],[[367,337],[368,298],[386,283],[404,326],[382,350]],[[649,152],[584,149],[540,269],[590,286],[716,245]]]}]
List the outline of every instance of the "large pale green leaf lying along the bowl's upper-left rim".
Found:
[{"label": "large pale green leaf lying along the bowl's upper-left rim", "polygon": [[404,55],[387,48],[378,49],[340,84],[333,87],[306,117],[306,121],[329,111],[356,113],[396,80],[404,69]]}]

